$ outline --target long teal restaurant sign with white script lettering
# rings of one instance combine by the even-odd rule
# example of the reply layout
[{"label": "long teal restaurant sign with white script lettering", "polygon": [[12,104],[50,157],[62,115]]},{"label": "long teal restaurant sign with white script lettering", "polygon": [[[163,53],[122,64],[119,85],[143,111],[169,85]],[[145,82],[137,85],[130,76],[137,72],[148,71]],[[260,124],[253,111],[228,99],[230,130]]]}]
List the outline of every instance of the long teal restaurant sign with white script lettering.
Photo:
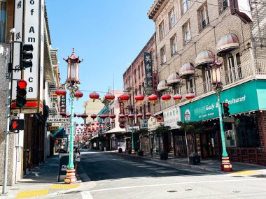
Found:
[{"label": "long teal restaurant sign with white script lettering", "polygon": [[[241,112],[265,109],[263,101],[266,81],[253,80],[221,92],[221,103],[228,103],[230,115]],[[181,106],[182,121],[200,121],[218,117],[217,96],[213,94],[193,103]]]}]

